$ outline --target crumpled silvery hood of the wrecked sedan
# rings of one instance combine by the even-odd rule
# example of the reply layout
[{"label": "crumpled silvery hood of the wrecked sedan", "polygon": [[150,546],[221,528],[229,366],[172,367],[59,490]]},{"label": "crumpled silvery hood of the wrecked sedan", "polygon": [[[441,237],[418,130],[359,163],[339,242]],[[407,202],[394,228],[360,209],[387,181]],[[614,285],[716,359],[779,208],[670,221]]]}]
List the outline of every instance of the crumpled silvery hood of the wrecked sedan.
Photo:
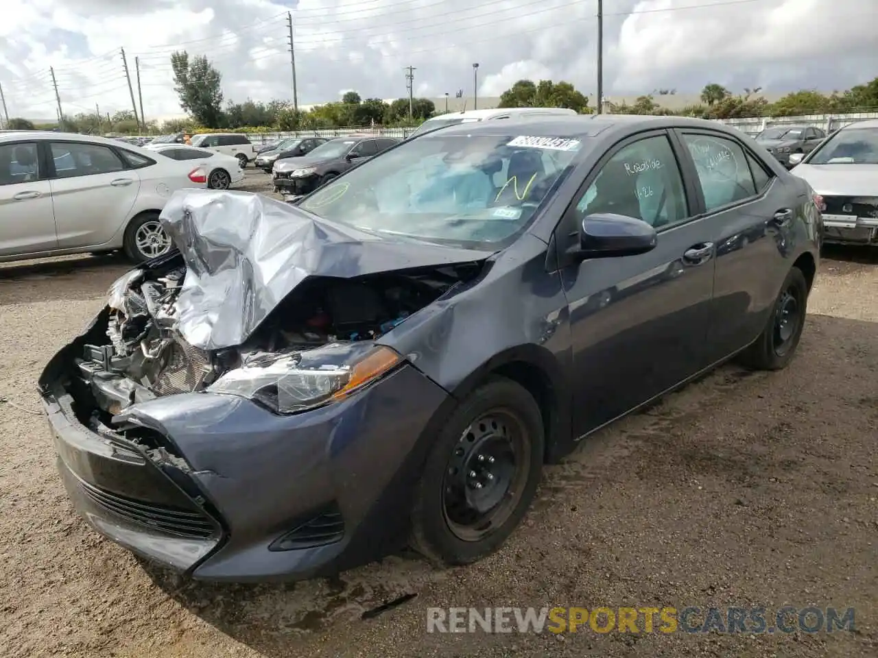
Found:
[{"label": "crumpled silvery hood of the wrecked sedan", "polygon": [[180,190],[161,220],[187,268],[176,329],[205,350],[241,345],[309,276],[351,278],[491,255],[330,224],[247,192]]}]

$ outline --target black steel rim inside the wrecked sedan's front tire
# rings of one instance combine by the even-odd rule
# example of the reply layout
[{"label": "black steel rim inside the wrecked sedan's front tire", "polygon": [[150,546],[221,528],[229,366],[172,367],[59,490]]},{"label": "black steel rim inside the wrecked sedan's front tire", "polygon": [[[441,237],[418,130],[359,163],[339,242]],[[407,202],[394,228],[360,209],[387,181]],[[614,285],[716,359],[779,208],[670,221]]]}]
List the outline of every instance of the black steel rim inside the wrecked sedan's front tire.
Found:
[{"label": "black steel rim inside the wrecked sedan's front tire", "polygon": [[496,409],[457,441],[443,482],[443,514],[459,540],[482,540],[515,511],[530,470],[524,433],[515,411]]}]

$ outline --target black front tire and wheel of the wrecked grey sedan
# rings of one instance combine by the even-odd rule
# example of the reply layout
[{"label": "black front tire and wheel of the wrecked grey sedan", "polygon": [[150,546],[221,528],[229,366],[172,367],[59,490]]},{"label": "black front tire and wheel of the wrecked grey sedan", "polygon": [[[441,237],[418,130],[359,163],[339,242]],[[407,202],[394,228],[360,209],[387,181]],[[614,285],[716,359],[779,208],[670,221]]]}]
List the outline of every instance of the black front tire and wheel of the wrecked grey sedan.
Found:
[{"label": "black front tire and wheel of the wrecked grey sedan", "polygon": [[[510,430],[501,420],[498,429],[489,418],[507,418],[515,427]],[[487,426],[479,423],[480,420],[486,420]],[[517,439],[515,433],[518,433]],[[511,471],[506,464],[508,455],[496,449],[504,441],[510,446],[513,442],[519,443]],[[472,391],[444,423],[428,454],[412,504],[411,547],[428,559],[447,565],[468,564],[497,550],[519,525],[534,498],[543,469],[543,445],[540,409],[521,385],[505,377],[492,377]],[[495,463],[493,456],[489,456],[491,465],[488,465],[483,459],[483,448],[489,454],[498,454],[498,461]],[[484,493],[482,487],[476,491],[473,487],[478,485],[468,477],[475,471],[469,470],[469,466],[461,471],[455,464],[477,464],[473,468],[481,469],[479,477],[490,477],[493,482],[487,483]],[[485,467],[497,468],[500,475],[496,480]],[[507,478],[511,482],[508,489],[504,489]],[[461,482],[463,480],[465,482]],[[461,484],[463,486],[459,486]],[[497,515],[496,526],[482,536],[476,536],[480,531],[473,530],[473,536],[462,537],[464,526],[453,520],[449,512],[465,507],[450,505],[452,489],[459,492],[467,486],[467,497],[484,496],[486,504],[500,495],[499,502],[487,512],[487,515]],[[492,486],[495,489],[492,490]],[[520,493],[510,494],[510,490]]]}]

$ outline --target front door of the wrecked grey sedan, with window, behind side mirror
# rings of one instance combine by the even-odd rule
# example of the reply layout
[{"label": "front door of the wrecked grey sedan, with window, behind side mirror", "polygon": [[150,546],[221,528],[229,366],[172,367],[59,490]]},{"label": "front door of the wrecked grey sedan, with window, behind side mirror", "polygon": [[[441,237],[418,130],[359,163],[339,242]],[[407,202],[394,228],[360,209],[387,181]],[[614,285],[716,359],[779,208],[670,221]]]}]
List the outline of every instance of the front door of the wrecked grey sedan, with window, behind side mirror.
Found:
[{"label": "front door of the wrecked grey sedan, with window, behind side mirror", "polygon": [[694,219],[692,187],[664,131],[617,145],[580,190],[556,234],[594,213],[641,219],[659,232],[651,252],[567,265],[573,360],[573,429],[581,436],[708,365],[714,236]]}]

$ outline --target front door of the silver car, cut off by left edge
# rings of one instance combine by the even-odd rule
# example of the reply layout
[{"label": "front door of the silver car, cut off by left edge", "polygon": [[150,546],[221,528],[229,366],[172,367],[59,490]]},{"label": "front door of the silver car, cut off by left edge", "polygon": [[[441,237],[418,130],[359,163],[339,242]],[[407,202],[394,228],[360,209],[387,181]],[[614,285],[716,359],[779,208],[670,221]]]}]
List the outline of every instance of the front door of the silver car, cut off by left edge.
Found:
[{"label": "front door of the silver car, cut off by left edge", "polygon": [[52,189],[37,142],[0,144],[0,256],[57,246]]}]

